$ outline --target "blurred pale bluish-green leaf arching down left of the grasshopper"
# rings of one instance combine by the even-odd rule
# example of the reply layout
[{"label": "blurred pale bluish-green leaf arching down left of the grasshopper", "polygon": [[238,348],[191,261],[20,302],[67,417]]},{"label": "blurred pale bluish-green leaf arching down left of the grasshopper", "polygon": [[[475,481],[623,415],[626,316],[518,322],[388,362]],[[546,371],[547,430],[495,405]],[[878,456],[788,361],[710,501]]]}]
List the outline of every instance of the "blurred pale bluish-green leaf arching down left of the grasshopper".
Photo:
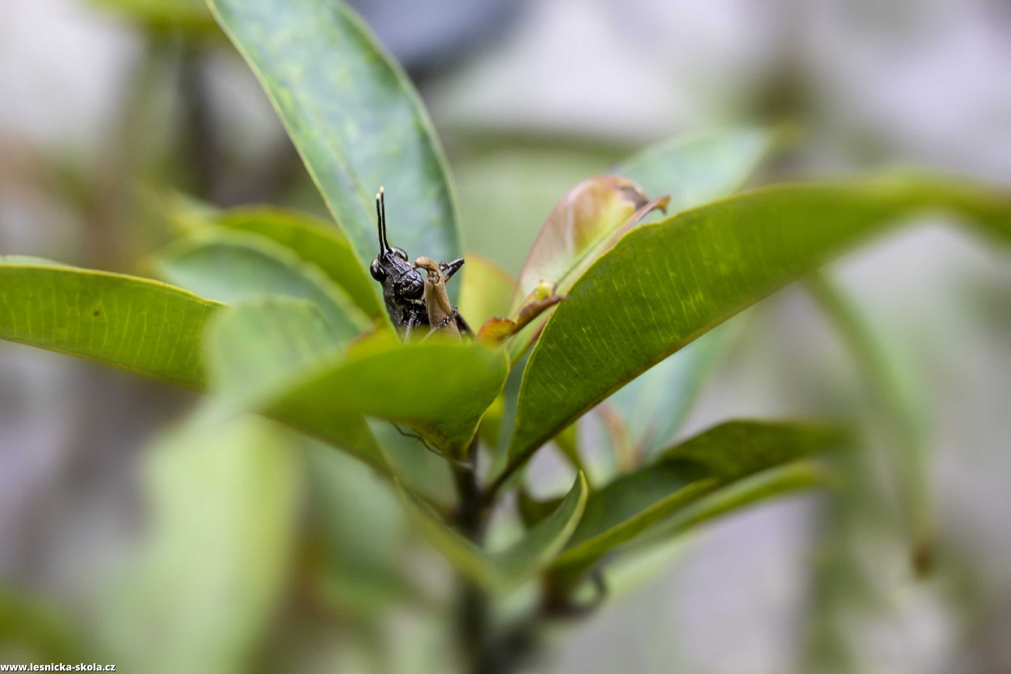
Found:
[{"label": "blurred pale bluish-green leaf arching down left of the grasshopper", "polygon": [[318,267],[260,236],[206,233],[174,244],[157,265],[170,282],[226,304],[264,296],[308,300],[340,341],[354,339],[371,325]]}]

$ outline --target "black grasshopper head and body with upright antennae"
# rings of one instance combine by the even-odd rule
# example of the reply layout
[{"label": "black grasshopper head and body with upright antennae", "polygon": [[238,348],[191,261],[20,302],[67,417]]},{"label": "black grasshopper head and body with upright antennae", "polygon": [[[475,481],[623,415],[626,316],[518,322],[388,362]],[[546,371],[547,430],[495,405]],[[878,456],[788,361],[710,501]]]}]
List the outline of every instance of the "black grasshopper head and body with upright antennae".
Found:
[{"label": "black grasshopper head and body with upright antennae", "polygon": [[[407,253],[402,248],[389,245],[386,236],[386,199],[381,187],[376,194],[376,217],[379,221],[379,254],[372,260],[369,272],[382,283],[383,302],[390,321],[403,339],[409,340],[410,333],[416,328],[431,324],[425,304],[425,279],[415,265],[407,262]],[[463,266],[463,258],[440,262],[438,266],[445,282]],[[459,323],[463,326],[461,332],[471,334],[462,318]]]}]

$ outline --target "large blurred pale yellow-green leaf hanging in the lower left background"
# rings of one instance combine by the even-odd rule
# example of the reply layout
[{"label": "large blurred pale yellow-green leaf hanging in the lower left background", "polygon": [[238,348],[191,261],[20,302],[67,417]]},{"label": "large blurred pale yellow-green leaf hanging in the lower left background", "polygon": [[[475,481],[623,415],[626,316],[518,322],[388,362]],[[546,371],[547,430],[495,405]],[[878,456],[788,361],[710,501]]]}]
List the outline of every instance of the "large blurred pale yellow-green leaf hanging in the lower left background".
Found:
[{"label": "large blurred pale yellow-green leaf hanging in the lower left background", "polygon": [[269,422],[182,429],[147,457],[149,538],[100,611],[126,671],[246,671],[280,599],[300,470]]}]

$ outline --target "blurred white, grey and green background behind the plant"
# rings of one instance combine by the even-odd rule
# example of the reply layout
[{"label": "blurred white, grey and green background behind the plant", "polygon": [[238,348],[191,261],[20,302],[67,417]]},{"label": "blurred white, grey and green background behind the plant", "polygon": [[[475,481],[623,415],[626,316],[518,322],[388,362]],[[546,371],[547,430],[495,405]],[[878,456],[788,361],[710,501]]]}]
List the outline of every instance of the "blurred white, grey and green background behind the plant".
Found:
[{"label": "blurred white, grey and green background behind the plant", "polygon": [[[429,106],[466,250],[514,273],[569,187],[700,129],[800,130],[755,183],[916,164],[1011,187],[1006,0],[351,4]],[[202,3],[6,0],[0,101],[0,254],[150,273],[172,237],[151,184],[325,214]],[[886,354],[890,403],[817,293],[792,287],[732,322],[677,430],[855,415],[874,434],[891,407],[901,438],[882,430],[843,461],[851,489],[640,561],[655,573],[616,581],[536,667],[1011,671],[1011,265],[949,225],[919,222],[827,272]],[[441,610],[445,569],[389,494],[257,422],[180,438],[196,402],[0,343],[0,658],[84,643],[121,671],[447,671],[441,623],[420,617]],[[584,446],[614,443],[607,405],[580,421]],[[237,443],[263,452],[259,473]],[[531,481],[561,472],[546,452]]]}]

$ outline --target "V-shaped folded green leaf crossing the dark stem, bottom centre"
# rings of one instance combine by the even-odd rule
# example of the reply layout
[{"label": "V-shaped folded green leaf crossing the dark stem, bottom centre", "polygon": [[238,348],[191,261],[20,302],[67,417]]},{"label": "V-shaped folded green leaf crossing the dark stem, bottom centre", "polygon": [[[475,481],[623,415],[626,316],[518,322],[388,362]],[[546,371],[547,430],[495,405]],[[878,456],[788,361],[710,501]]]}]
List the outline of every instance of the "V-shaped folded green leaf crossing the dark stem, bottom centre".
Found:
[{"label": "V-shaped folded green leaf crossing the dark stem, bottom centre", "polygon": [[549,516],[519,541],[488,554],[450,527],[421,497],[400,486],[411,518],[429,541],[462,574],[490,592],[504,592],[547,566],[572,534],[586,504],[586,479],[580,473]]}]

